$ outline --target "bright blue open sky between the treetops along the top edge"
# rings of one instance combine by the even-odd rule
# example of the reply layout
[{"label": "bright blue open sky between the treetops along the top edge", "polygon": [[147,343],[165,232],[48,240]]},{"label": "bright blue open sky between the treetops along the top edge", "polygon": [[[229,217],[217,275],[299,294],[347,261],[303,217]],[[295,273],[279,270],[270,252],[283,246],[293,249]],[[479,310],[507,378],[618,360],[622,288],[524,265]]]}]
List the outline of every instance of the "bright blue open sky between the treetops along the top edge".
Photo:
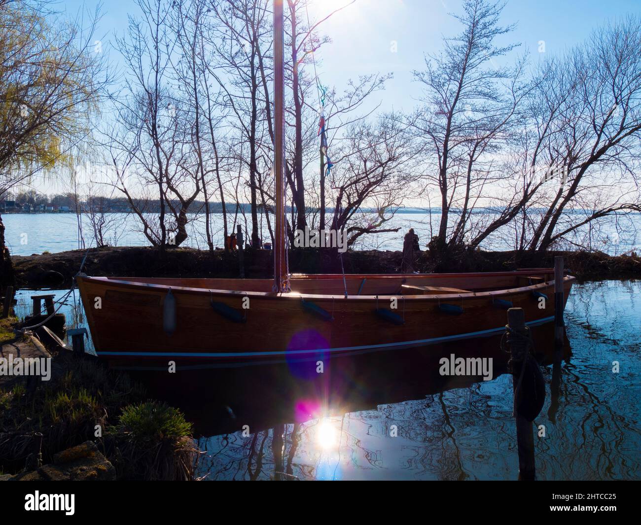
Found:
[{"label": "bright blue open sky between the treetops along the top edge", "polygon": [[[351,0],[310,0],[312,21],[349,4]],[[375,94],[385,110],[412,110],[420,94],[412,81],[412,70],[422,69],[425,53],[436,53],[442,37],[456,35],[460,25],[448,13],[461,12],[460,0],[356,0],[322,24],[322,32],[332,38],[317,54],[319,78],[324,85],[340,91],[347,79],[359,74],[393,72],[394,79],[384,92]],[[70,14],[82,8],[93,11],[98,0],[67,0],[60,4]],[[519,53],[529,50],[531,61],[560,53],[580,44],[590,31],[608,19],[641,11],[639,0],[508,0],[502,24],[517,24],[503,42],[520,42]],[[96,38],[108,51],[113,33],[126,29],[127,13],[137,13],[133,0],[110,0],[102,6],[103,19]],[[305,15],[306,16],[306,15]],[[540,41],[545,53],[539,53]],[[115,51],[110,53],[117,60]],[[54,185],[41,191],[63,191]]]}]

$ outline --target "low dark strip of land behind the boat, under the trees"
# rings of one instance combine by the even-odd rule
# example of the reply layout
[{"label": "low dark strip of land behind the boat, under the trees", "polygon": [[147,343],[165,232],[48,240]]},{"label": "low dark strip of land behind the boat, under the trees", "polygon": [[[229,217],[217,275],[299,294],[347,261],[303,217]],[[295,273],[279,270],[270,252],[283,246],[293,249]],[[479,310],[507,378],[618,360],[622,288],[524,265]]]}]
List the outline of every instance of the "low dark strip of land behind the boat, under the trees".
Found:
[{"label": "low dark strip of land behind the boat, under the trees", "polygon": [[[621,279],[641,276],[637,255],[610,256],[601,252],[451,252],[435,256],[420,252],[416,270],[420,272],[488,272],[519,267],[551,267],[554,256],[565,256],[565,267],[579,279]],[[61,253],[13,256],[16,284],[19,287],[67,286],[78,272],[84,250]],[[346,273],[397,273],[401,269],[400,251],[348,251],[342,260]],[[272,276],[272,252],[244,251],[247,278]],[[289,268],[294,273],[340,273],[341,260],[331,249],[292,249]],[[103,247],[87,255],[84,272],[90,276],[131,277],[238,277],[238,253],[222,250],[210,253],[176,248],[161,254],[153,247]]]}]

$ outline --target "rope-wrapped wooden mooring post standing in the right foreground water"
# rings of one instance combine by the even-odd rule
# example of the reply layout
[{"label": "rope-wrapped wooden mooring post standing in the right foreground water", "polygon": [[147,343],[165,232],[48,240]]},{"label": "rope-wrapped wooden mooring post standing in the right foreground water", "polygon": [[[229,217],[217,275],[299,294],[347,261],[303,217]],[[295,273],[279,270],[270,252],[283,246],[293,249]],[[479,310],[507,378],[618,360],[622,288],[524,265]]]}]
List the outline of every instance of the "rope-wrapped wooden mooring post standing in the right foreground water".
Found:
[{"label": "rope-wrapped wooden mooring post standing in the right foreground water", "polygon": [[[512,390],[516,401],[516,397],[522,395],[522,392],[517,392],[519,373],[521,367],[526,365],[529,351],[525,315],[522,308],[508,309],[508,326],[510,331],[516,334],[516,337],[508,337],[510,354],[512,355],[511,361],[520,363],[518,368],[512,365]],[[514,403],[514,406],[517,406],[517,403]],[[519,479],[534,479],[536,469],[534,463],[533,424],[520,415],[516,409],[514,410],[514,417],[517,427],[517,446],[519,447]]]}]

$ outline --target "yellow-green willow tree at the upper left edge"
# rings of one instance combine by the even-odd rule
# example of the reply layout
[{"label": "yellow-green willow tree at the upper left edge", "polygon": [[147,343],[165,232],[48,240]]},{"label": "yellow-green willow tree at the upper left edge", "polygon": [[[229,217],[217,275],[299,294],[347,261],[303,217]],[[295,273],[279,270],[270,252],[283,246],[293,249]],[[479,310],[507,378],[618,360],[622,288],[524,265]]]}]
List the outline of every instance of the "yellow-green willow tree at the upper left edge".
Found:
[{"label": "yellow-green willow tree at the upper left edge", "polygon": [[[0,0],[0,197],[35,176],[72,174],[106,82],[100,42],[47,4]],[[0,218],[0,281],[12,280]]]}]

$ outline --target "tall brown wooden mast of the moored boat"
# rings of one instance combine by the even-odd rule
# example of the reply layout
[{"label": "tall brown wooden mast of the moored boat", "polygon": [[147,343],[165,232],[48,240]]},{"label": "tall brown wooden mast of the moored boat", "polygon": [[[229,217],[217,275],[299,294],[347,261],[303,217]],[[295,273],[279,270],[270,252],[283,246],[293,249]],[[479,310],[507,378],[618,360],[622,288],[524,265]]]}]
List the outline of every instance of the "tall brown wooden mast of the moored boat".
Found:
[{"label": "tall brown wooden mast of the moored boat", "polygon": [[274,0],[274,292],[289,291],[285,263],[285,49],[283,0]]}]

